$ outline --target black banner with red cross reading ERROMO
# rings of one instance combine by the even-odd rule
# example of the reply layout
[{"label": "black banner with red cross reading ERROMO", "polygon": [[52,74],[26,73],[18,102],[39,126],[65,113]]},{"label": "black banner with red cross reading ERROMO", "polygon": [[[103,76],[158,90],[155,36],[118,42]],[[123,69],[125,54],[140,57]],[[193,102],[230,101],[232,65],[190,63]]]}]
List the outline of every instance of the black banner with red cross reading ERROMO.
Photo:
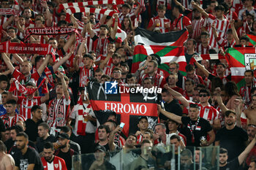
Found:
[{"label": "black banner with red cross reading ERROMO", "polygon": [[[90,82],[88,86],[91,107],[99,123],[105,123],[108,116],[116,112],[118,125],[125,123],[123,133],[135,134],[138,131],[138,119],[140,116],[148,118],[148,128],[153,129],[158,122],[157,93],[158,88],[145,93],[143,88],[130,90],[123,85],[118,86],[116,82]],[[140,91],[142,90],[142,91]]]}]

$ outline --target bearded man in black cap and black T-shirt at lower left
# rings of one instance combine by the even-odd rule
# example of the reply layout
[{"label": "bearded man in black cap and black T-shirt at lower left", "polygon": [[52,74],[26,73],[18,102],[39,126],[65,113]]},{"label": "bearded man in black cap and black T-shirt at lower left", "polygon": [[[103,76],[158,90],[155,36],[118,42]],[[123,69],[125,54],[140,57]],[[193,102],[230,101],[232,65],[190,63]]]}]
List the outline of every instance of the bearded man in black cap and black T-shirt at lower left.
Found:
[{"label": "bearded man in black cap and black T-shirt at lower left", "polygon": [[56,150],[54,155],[64,159],[67,165],[67,170],[72,168],[72,156],[78,155],[78,152],[70,149],[69,147],[69,136],[68,134],[59,134],[58,136],[59,150]]}]

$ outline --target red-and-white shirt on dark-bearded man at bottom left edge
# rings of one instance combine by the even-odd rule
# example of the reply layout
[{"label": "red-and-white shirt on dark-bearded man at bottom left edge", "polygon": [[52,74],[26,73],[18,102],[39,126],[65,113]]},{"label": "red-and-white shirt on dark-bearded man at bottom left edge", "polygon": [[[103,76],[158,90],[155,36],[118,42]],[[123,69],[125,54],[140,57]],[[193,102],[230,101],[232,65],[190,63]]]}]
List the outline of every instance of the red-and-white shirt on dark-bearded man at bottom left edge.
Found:
[{"label": "red-and-white shirt on dark-bearded man at bottom left edge", "polygon": [[64,159],[59,158],[59,156],[55,156],[53,161],[49,163],[45,160],[44,157],[41,158],[42,166],[44,166],[44,170],[67,170],[66,163]]}]

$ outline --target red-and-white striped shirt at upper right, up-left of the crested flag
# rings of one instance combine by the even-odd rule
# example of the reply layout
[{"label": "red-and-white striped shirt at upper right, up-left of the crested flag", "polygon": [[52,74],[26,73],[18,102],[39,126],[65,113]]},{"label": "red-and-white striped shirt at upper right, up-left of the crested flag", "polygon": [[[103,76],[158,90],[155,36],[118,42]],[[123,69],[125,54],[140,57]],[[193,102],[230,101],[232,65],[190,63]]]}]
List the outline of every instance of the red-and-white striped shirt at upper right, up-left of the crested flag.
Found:
[{"label": "red-and-white striped shirt at upper right, up-left of the crested flag", "polygon": [[230,22],[225,18],[223,20],[219,20],[216,17],[214,17],[214,15],[209,14],[207,23],[209,24],[208,32],[210,34],[209,45],[211,45],[211,47],[217,48],[217,47],[219,47],[219,45],[218,45],[216,39],[214,38],[214,33],[211,28],[211,24],[214,23],[218,37],[225,39],[225,36],[227,34],[227,29],[230,28]]}]

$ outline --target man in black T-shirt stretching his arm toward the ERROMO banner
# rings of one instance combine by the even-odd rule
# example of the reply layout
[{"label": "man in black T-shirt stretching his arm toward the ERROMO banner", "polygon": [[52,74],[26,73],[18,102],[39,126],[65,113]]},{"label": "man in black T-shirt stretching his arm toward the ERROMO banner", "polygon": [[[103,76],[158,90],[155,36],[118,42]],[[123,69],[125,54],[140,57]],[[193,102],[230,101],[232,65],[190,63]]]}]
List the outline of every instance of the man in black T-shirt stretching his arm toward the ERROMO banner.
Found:
[{"label": "man in black T-shirt stretching his arm toward the ERROMO banner", "polygon": [[[187,146],[205,147],[210,145],[215,140],[214,130],[208,120],[198,116],[199,108],[197,104],[189,105],[189,117],[181,117],[170,112],[166,112],[158,105],[159,112],[177,123],[182,123],[184,128],[181,129],[181,134],[187,137]],[[209,136],[208,141],[206,136]]]}]

